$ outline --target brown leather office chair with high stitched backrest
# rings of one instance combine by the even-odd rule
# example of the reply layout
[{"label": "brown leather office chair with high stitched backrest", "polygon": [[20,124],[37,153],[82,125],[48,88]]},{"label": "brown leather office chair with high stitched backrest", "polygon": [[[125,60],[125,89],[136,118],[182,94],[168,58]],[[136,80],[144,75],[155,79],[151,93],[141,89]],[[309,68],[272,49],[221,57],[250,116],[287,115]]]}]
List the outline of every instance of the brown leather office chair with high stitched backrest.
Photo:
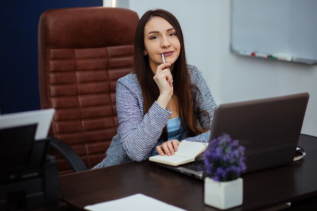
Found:
[{"label": "brown leather office chair with high stitched backrest", "polygon": [[116,80],[134,66],[138,20],[131,10],[104,7],[53,9],[41,15],[41,108],[56,109],[51,145],[70,162],[54,151],[59,174],[90,169],[104,158],[118,126]]}]

